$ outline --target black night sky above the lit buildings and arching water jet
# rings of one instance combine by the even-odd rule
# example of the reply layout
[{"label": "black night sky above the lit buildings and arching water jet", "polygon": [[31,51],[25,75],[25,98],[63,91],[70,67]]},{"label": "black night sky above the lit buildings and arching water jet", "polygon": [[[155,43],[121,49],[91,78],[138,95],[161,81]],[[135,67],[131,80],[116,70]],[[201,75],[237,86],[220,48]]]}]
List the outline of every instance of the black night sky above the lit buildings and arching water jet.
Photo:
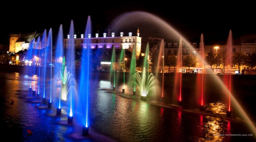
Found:
[{"label": "black night sky above the lit buildings and arching water jet", "polygon": [[[84,1],[85,2],[85,1]],[[84,33],[87,16],[91,15],[93,33],[103,33],[106,27],[120,14],[130,11],[145,11],[159,16],[172,25],[186,38],[200,38],[203,33],[206,39],[226,40],[229,30],[233,37],[243,34],[256,33],[255,8],[253,4],[221,2],[207,3],[142,3],[130,2],[129,5],[111,5],[113,2],[99,5],[84,5],[84,2],[70,4],[61,2],[60,5],[1,4],[10,10],[1,8],[0,44],[9,44],[11,33],[42,33],[44,29],[53,29],[57,34],[60,24],[63,24],[64,35],[74,20],[76,34]],[[128,3],[128,2],[127,2]],[[170,3],[170,4],[169,4]],[[64,5],[64,6],[63,6]],[[24,7],[25,6],[25,7]],[[13,9],[13,10],[11,10]]]}]

